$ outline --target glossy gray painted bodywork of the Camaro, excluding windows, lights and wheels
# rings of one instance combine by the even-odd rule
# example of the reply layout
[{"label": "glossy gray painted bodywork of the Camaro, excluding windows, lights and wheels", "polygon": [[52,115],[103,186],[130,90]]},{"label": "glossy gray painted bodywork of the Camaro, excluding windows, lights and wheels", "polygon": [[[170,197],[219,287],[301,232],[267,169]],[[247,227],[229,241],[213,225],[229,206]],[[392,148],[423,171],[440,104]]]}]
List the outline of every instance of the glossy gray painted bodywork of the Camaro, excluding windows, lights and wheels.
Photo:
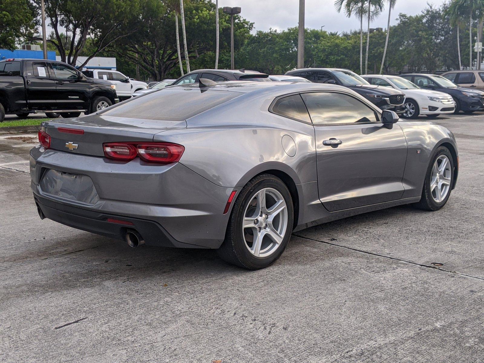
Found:
[{"label": "glossy gray painted bodywork of the Camaro, excluding windows, lights and wheels", "polygon": [[[200,91],[198,85],[173,87]],[[448,143],[455,153],[457,150],[452,133],[429,122],[399,121],[392,130],[379,122],[314,127],[269,112],[272,101],[282,95],[335,91],[357,97],[381,113],[345,87],[224,82],[214,88],[244,94],[182,122],[109,118],[100,112],[62,123],[43,123],[42,129],[52,136],[53,148],[58,150],[35,147],[30,152],[34,194],[42,195],[38,183],[43,168],[88,175],[100,200],[92,207],[78,207],[154,220],[177,241],[217,248],[225,237],[230,214],[230,210],[223,214],[228,196],[259,173],[287,176],[285,180],[294,184],[298,230],[418,201],[432,152],[442,143]],[[163,91],[157,93],[162,96]],[[59,133],[57,127],[66,124],[82,128],[85,134]],[[285,135],[294,140],[294,156],[284,150]],[[343,144],[323,148],[321,142],[326,137],[340,138]],[[124,163],[104,158],[103,142],[151,140],[183,145],[180,162],[159,166],[139,159]],[[365,145],[359,155],[362,140]],[[63,151],[62,143],[67,141],[78,142],[89,155],[79,154],[80,149]],[[385,163],[386,156],[393,157],[394,164]],[[354,166],[354,174],[349,166]],[[339,203],[336,209],[345,203],[347,209],[330,212],[334,201]],[[74,202],[59,202],[76,206]]]}]

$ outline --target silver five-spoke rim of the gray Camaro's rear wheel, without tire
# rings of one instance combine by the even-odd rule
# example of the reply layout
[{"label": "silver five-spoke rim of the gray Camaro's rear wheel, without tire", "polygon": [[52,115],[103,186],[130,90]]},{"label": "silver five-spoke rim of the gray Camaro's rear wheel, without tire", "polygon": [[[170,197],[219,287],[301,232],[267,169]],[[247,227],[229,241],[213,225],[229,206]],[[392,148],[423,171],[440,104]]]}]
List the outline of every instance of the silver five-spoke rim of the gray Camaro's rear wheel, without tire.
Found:
[{"label": "silver five-spoke rim of the gray Camaro's rear wheel, without tire", "polygon": [[287,205],[273,188],[259,190],[245,207],[242,238],[256,257],[272,255],[282,243],[287,230]]}]

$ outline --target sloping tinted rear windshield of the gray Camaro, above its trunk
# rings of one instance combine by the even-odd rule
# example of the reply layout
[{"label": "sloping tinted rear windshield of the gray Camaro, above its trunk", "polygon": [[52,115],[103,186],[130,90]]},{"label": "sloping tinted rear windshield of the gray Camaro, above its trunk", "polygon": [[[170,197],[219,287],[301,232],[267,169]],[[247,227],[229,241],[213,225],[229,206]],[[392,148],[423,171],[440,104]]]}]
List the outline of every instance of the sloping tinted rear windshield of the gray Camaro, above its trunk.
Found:
[{"label": "sloping tinted rear windshield of the gray Camaro, above its trunk", "polygon": [[242,94],[218,90],[164,89],[133,98],[100,114],[129,119],[183,121]]}]

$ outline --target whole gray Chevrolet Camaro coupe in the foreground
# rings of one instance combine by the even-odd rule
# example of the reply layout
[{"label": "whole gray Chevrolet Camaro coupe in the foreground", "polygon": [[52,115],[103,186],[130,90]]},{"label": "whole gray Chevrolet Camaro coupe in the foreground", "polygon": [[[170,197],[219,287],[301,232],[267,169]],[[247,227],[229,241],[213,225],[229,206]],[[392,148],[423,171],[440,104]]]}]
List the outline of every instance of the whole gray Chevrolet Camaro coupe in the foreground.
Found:
[{"label": "whole gray Chevrolet Camaro coupe in the foreground", "polygon": [[445,127],[318,83],[173,86],[43,122],[39,141],[41,218],[134,247],[218,249],[248,269],[273,263],[292,231],[401,204],[439,210],[458,171]]}]

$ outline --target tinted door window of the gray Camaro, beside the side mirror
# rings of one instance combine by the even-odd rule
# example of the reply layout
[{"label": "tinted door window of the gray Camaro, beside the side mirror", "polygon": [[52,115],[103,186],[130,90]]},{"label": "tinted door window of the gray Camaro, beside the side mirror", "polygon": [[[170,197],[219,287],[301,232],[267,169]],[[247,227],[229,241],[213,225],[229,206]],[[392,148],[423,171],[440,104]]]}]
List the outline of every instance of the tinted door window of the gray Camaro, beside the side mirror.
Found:
[{"label": "tinted door window of the gray Camaro, beside the side mirror", "polygon": [[303,93],[314,125],[378,122],[375,112],[356,98],[341,93]]}]

